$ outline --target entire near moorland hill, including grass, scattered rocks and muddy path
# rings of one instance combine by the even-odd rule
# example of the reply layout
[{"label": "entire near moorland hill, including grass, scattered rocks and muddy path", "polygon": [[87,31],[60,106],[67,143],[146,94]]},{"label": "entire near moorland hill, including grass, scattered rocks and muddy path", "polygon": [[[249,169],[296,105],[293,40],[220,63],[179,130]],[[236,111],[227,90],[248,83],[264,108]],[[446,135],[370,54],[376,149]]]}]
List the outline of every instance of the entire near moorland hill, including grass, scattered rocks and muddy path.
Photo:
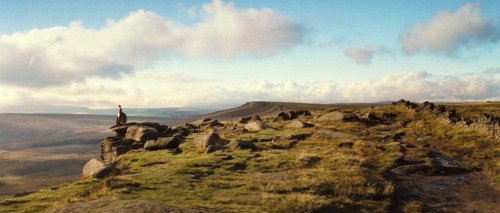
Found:
[{"label": "entire near moorland hill, including grass, scattered rocks and muddy path", "polygon": [[[174,149],[133,149],[105,177],[0,211],[498,212],[498,117],[498,102],[250,102],[172,125],[185,132]],[[214,134],[222,145],[200,145]]]}]

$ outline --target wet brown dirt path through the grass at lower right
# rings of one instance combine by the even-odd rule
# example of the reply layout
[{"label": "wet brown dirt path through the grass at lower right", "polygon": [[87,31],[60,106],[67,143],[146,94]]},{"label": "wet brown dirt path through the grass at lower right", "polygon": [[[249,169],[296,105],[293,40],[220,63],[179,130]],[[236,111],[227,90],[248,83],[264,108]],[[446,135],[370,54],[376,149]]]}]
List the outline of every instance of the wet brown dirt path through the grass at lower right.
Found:
[{"label": "wet brown dirt path through the grass at lower right", "polygon": [[389,172],[391,212],[500,212],[500,192],[482,172],[460,167],[426,147],[401,143],[404,156]]}]

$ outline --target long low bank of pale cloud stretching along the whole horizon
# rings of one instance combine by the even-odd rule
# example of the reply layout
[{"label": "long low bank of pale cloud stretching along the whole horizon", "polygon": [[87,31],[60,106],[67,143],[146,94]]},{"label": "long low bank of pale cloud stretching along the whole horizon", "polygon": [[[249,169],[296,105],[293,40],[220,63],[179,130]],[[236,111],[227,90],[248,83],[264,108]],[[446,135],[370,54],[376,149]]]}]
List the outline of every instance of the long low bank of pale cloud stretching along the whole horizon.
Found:
[{"label": "long low bank of pale cloud stretching along the whole horizon", "polygon": [[[38,89],[11,88],[5,90],[3,102],[6,105],[76,104],[91,108],[110,108],[121,103],[140,108],[237,106],[248,101],[377,102],[400,98],[412,101],[500,101],[499,75],[500,68],[491,68],[463,76],[433,76],[424,71],[402,72],[388,74],[376,81],[349,85],[332,81],[266,80],[222,85],[197,73],[137,72],[120,80],[92,78],[86,82],[75,82],[69,87],[44,88],[43,92]],[[137,79],[141,79],[141,84],[137,84]],[[189,83],[186,83],[187,79]],[[3,89],[2,86],[0,89]]]}]

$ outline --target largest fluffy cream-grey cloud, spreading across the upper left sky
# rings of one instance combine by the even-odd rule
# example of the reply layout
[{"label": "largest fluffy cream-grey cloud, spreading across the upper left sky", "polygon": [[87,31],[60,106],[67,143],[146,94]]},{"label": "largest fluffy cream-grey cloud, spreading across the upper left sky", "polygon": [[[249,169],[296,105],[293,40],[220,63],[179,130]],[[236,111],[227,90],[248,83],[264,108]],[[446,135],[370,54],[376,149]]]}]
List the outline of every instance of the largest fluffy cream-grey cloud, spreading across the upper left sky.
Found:
[{"label": "largest fluffy cream-grey cloud, spreading across the upper left sky", "polygon": [[0,35],[0,83],[43,88],[121,77],[169,56],[266,56],[300,43],[302,26],[271,9],[214,0],[183,25],[138,10],[100,29],[69,26]]}]

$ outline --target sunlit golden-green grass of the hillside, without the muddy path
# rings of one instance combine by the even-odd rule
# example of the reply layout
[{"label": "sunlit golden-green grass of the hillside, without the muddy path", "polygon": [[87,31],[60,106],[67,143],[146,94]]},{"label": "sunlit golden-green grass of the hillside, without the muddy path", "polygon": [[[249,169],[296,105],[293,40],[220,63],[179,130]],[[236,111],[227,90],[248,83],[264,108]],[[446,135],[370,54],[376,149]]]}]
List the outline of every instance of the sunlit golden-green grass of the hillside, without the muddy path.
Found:
[{"label": "sunlit golden-green grass of the hillside, without the muddy path", "polygon": [[[479,111],[498,113],[493,109],[500,105],[474,105],[474,110],[467,105],[453,107],[460,108],[457,111],[464,115],[475,116]],[[299,118],[314,125],[310,128],[288,127],[292,121],[277,122],[268,117],[263,121],[268,126],[265,130],[221,133],[224,139],[254,141],[258,147],[254,151],[237,149],[206,154],[193,143],[194,138],[210,131],[204,128],[184,140],[180,145],[182,153],[132,151],[118,158],[119,172],[110,177],[81,179],[2,199],[0,212],[68,211],[78,208],[71,204],[82,207],[85,202],[103,201],[113,206],[110,202],[116,200],[155,201],[186,211],[425,211],[432,207],[432,202],[418,197],[400,202],[397,197],[407,182],[392,171],[409,156],[405,147],[418,148],[411,156],[418,158],[418,168],[438,166],[433,153],[439,153],[439,158],[486,174],[485,179],[477,181],[497,185],[500,182],[500,144],[478,132],[400,106],[344,106],[341,111],[360,117],[349,122],[318,119],[329,111],[339,110],[332,106],[313,110],[312,116]],[[378,119],[364,118],[367,113]],[[223,123],[235,125],[234,120]],[[330,136],[321,136],[319,132],[328,132]],[[417,171],[418,178],[439,176],[424,173]],[[464,178],[469,178],[467,175]],[[495,185],[487,190],[498,196]],[[465,203],[468,202],[465,198],[462,202],[467,208],[480,208]],[[99,211],[102,206],[85,208]]]}]

